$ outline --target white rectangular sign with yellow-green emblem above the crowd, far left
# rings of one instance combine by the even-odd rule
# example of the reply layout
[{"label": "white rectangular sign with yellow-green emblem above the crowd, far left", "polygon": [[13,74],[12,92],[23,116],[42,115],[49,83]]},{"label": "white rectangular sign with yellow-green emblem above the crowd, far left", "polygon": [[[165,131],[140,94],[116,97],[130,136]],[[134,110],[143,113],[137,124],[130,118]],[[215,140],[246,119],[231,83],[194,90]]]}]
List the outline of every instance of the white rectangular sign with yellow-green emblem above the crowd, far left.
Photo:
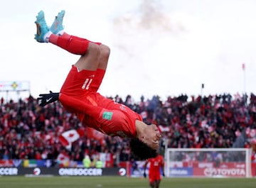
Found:
[{"label": "white rectangular sign with yellow-green emblem above the crowd, far left", "polygon": [[23,92],[30,91],[28,81],[5,81],[0,82],[0,92]]}]

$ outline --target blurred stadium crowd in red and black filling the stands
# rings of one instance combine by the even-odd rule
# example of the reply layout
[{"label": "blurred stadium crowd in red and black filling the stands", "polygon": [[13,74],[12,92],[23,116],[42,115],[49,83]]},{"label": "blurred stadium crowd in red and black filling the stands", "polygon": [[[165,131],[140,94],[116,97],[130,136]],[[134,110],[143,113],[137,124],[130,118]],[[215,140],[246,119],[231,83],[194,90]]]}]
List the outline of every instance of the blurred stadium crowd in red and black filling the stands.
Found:
[{"label": "blurred stadium crowd in red and black filling the stands", "polygon": [[[134,102],[132,96],[114,101],[129,106],[142,115],[146,123],[156,123],[162,133],[162,145],[169,148],[231,148],[242,132],[247,136],[243,147],[250,147],[256,130],[256,96],[221,94],[215,96],[159,96]],[[95,159],[98,153],[112,158],[109,166],[128,161],[128,140],[105,136],[100,142],[87,135],[67,150],[58,137],[64,131],[82,128],[75,114],[55,102],[38,106],[33,96],[17,102],[1,99],[0,159],[50,159],[60,155],[82,161],[85,155]],[[254,131],[251,131],[254,130]],[[167,142],[164,142],[167,140]]]}]

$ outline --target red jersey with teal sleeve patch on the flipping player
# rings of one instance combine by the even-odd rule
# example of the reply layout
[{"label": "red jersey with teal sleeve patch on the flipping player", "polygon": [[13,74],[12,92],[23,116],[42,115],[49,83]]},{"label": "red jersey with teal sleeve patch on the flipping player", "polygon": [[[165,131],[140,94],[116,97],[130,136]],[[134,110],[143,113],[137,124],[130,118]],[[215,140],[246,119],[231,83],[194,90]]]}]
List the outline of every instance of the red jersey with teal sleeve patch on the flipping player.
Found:
[{"label": "red jersey with teal sleeve patch on the flipping player", "polygon": [[107,99],[98,93],[88,94],[84,99],[61,94],[60,102],[65,109],[75,113],[85,126],[95,128],[109,136],[122,138],[137,136],[135,121],[142,121],[142,116],[123,104],[115,103],[112,99]]}]

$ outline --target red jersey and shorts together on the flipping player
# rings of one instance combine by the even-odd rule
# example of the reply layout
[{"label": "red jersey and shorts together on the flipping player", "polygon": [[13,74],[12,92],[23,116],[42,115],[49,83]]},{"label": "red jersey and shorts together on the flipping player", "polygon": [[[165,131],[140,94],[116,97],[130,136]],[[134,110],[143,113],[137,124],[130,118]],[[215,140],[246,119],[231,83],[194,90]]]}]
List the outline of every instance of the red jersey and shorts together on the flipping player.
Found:
[{"label": "red jersey and shorts together on the flipping player", "polygon": [[109,136],[134,138],[137,136],[135,121],[142,117],[123,104],[97,93],[105,70],[78,70],[72,66],[59,101],[65,109],[75,113],[84,126],[95,128]]}]

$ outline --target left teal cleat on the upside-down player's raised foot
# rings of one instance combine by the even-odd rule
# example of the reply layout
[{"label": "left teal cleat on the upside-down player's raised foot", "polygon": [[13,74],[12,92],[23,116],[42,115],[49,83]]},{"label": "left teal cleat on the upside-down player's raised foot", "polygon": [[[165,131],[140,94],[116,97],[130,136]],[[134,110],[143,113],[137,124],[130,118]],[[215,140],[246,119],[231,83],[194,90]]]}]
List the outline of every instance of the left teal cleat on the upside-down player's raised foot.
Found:
[{"label": "left teal cleat on the upside-down player's raised foot", "polygon": [[46,24],[46,19],[44,16],[43,11],[40,11],[38,13],[38,16],[36,16],[36,35],[35,35],[35,39],[39,42],[39,43],[47,43],[48,40],[46,39],[46,34],[49,32],[49,28]]}]

